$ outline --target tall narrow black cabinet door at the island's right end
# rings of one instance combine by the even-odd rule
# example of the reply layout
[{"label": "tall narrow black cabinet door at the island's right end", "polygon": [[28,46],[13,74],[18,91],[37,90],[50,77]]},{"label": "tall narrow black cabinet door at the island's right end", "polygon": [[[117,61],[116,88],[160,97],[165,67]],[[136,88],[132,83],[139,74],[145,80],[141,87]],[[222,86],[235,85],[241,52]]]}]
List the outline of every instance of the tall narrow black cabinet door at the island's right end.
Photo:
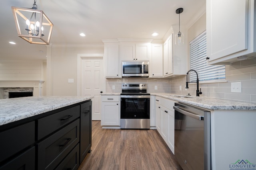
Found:
[{"label": "tall narrow black cabinet door at the island's right end", "polygon": [[80,164],[92,146],[92,101],[81,104],[80,111]]}]

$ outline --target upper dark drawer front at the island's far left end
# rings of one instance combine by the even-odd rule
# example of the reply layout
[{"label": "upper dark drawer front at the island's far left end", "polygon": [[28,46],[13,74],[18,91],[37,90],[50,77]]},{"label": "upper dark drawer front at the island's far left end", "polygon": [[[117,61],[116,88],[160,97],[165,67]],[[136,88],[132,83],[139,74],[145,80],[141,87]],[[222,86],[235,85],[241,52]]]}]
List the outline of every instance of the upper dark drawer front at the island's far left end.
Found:
[{"label": "upper dark drawer front at the island's far left end", "polygon": [[0,162],[32,145],[34,142],[34,121],[0,132]]}]

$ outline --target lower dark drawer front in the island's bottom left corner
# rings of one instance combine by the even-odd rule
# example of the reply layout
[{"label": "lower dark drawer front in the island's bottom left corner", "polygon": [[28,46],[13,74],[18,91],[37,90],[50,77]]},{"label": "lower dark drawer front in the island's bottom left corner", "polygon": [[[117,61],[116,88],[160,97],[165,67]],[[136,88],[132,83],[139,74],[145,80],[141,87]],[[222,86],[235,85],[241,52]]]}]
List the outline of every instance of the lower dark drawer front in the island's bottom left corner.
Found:
[{"label": "lower dark drawer front in the island's bottom left corner", "polygon": [[22,154],[10,160],[10,162],[1,166],[0,170],[20,170],[20,167],[23,167],[23,170],[34,170],[35,150],[35,147],[26,150]]}]

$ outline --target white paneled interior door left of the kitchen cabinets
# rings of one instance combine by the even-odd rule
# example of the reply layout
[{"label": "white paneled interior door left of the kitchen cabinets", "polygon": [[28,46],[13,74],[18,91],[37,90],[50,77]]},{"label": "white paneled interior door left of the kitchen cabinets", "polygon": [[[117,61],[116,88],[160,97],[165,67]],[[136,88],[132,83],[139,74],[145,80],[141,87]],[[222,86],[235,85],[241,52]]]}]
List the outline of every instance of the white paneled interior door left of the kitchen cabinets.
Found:
[{"label": "white paneled interior door left of the kitchen cabinets", "polygon": [[103,91],[105,78],[103,75],[103,59],[82,59],[81,93],[92,98],[92,120],[101,120],[100,91]]}]

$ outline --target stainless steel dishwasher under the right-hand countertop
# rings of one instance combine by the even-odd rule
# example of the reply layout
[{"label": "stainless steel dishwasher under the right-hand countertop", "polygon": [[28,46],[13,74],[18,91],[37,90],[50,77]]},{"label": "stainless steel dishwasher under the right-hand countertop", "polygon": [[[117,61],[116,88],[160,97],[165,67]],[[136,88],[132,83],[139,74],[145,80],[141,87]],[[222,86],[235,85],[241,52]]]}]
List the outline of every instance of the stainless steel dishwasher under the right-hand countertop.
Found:
[{"label": "stainless steel dishwasher under the right-hand countertop", "polygon": [[175,103],[174,155],[183,170],[211,170],[210,111]]}]

